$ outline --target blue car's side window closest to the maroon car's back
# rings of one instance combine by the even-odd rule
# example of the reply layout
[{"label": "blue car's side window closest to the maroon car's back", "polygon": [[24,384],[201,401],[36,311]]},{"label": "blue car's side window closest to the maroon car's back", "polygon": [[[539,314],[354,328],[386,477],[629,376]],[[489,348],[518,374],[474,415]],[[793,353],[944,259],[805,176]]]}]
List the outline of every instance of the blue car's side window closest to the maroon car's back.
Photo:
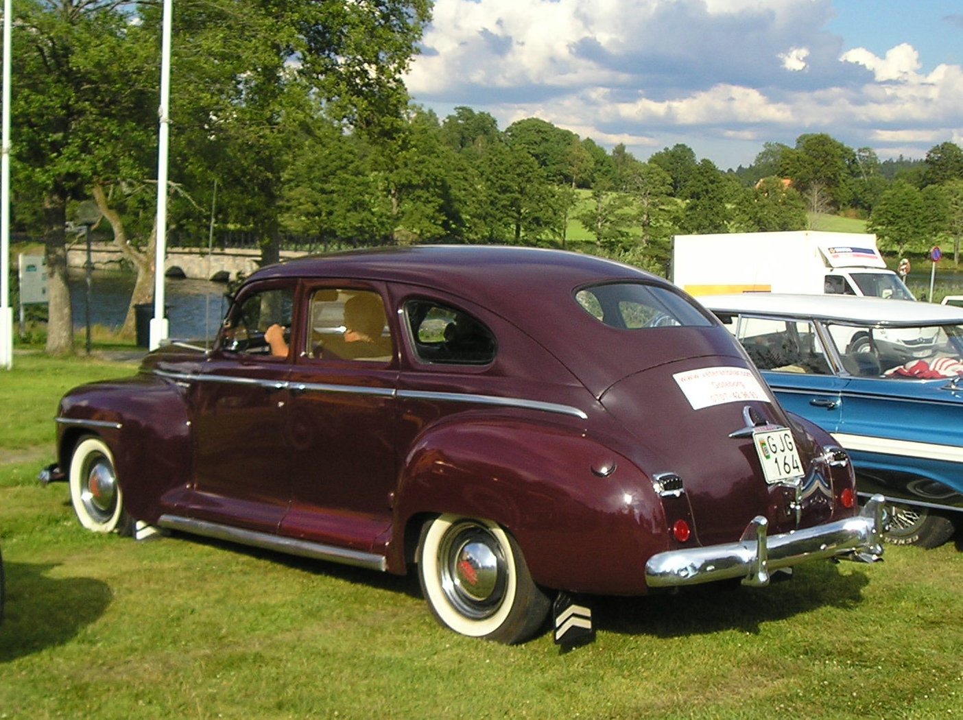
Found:
[{"label": "blue car's side window closest to the maroon car's back", "polygon": [[760,370],[830,373],[812,322],[742,317],[736,327],[736,337]]}]

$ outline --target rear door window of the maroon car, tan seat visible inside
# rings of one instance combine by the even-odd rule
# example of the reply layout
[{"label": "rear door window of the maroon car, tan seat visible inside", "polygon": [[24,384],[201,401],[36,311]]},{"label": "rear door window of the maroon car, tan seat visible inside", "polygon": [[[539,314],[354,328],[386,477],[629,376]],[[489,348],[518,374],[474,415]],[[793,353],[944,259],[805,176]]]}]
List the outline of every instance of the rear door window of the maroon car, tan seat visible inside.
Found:
[{"label": "rear door window of the maroon car, tan seat visible inside", "polygon": [[391,332],[381,296],[370,290],[324,288],[311,294],[308,351],[325,360],[391,360]]}]

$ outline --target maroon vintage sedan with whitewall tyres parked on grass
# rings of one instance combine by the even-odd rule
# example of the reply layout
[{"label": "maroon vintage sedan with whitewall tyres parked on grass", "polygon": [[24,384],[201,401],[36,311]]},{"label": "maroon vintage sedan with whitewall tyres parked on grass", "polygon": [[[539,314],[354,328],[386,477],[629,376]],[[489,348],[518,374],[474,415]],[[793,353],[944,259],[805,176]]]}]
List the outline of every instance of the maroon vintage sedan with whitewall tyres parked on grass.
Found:
[{"label": "maroon vintage sedan with whitewall tyres parked on grass", "polygon": [[421,246],[258,270],[211,351],[163,347],[57,416],[83,526],[403,574],[503,642],[556,592],[765,585],[882,552],[846,453],[716,319],[586,255]]}]

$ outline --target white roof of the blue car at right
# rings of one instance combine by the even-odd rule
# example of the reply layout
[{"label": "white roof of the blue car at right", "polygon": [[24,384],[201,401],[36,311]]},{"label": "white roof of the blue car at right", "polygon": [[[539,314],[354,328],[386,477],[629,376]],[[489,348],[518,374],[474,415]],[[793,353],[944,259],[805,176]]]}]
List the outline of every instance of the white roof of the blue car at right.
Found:
[{"label": "white roof of the blue car at right", "polygon": [[699,296],[695,299],[714,312],[777,313],[860,324],[963,323],[963,308],[881,297],[742,293]]}]

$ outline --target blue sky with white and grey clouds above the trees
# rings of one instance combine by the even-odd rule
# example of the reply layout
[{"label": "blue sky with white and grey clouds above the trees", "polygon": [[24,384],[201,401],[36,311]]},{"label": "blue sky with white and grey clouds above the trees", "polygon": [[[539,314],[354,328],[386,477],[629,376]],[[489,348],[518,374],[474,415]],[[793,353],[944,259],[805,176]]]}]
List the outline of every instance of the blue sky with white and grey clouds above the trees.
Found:
[{"label": "blue sky with white and grey clouds above the trees", "polygon": [[724,168],[828,133],[881,159],[963,144],[963,0],[435,0],[415,101],[541,117]]}]

